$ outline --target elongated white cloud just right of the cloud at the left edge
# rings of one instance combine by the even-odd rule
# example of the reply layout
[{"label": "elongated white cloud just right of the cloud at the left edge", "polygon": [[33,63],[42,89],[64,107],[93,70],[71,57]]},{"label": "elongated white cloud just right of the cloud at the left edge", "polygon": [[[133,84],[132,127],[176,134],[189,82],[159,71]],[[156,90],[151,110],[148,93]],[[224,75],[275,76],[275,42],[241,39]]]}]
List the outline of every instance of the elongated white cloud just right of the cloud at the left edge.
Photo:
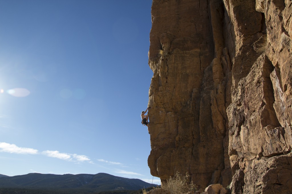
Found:
[{"label": "elongated white cloud just right of the cloud at the left edge", "polygon": [[48,156],[48,157],[58,158],[61,160],[78,161],[78,162],[88,161],[88,162],[90,162],[90,159],[84,155],[60,153],[59,151],[51,151],[51,150],[43,151],[42,154],[44,154],[45,156]]}]

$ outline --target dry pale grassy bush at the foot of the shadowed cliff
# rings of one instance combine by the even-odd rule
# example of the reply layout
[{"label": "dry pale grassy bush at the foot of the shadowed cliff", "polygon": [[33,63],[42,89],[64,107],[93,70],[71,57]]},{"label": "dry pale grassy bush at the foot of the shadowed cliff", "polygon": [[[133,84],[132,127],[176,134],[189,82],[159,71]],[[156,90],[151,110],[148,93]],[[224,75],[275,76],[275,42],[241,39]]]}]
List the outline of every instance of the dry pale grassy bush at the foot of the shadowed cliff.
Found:
[{"label": "dry pale grassy bush at the foot of the shadowed cliff", "polygon": [[189,191],[196,191],[197,185],[189,184],[190,175],[188,173],[185,176],[176,172],[174,177],[169,177],[166,182],[161,182],[161,188],[170,191],[171,194],[183,194]]}]

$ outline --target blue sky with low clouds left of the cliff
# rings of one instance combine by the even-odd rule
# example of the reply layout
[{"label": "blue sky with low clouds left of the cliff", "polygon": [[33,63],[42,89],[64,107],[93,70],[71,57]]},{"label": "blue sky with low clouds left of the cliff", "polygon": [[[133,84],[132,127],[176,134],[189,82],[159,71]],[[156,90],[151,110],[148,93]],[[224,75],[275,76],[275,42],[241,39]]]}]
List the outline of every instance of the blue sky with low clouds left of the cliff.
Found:
[{"label": "blue sky with low clouds left of the cliff", "polygon": [[140,118],[153,75],[151,4],[0,0],[0,174],[152,182]]}]

